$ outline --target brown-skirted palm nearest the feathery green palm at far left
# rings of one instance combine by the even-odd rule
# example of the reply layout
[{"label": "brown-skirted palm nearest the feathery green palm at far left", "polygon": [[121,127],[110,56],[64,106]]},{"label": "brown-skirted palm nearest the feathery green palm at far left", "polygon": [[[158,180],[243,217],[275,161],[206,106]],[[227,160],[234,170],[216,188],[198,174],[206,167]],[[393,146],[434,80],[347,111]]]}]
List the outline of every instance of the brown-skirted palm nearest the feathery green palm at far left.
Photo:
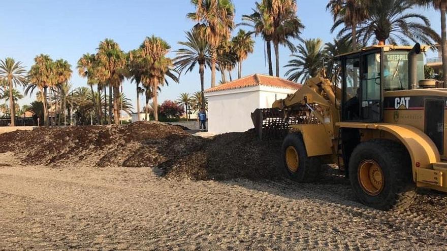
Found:
[{"label": "brown-skirted palm nearest the feathery green palm at far left", "polygon": [[25,89],[27,93],[33,93],[38,88],[41,94],[44,108],[44,124],[49,125],[47,89],[55,85],[57,79],[54,75],[54,61],[48,55],[40,54],[34,58],[35,64],[28,72],[29,85]]}]

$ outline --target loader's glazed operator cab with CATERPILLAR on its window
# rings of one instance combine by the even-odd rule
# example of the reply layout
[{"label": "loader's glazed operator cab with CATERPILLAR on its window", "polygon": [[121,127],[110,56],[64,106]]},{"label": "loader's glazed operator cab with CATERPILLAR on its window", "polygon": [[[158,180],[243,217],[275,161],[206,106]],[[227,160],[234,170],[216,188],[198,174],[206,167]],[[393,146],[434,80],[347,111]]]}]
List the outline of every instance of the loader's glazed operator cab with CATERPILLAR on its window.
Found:
[{"label": "loader's glazed operator cab with CATERPILLAR on its window", "polygon": [[419,80],[424,79],[419,44],[372,46],[338,59],[342,66],[342,121],[382,122],[384,92],[416,89]]}]

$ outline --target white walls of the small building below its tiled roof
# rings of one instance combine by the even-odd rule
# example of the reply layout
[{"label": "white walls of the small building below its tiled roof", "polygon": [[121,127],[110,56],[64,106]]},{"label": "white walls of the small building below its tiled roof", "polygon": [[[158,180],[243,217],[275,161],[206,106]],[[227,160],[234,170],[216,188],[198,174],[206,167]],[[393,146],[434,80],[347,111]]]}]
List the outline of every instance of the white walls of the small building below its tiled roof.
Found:
[{"label": "white walls of the small building below its tiled roof", "polygon": [[244,132],[253,128],[251,113],[270,108],[277,99],[296,90],[254,86],[206,93],[208,97],[208,131],[215,134]]}]

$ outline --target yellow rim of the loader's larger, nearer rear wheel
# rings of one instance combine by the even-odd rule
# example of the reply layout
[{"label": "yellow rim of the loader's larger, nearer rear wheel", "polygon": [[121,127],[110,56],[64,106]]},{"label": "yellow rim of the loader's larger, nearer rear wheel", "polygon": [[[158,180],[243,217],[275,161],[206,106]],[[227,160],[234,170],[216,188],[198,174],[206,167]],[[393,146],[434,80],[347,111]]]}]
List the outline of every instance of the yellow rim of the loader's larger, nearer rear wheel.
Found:
[{"label": "yellow rim of the loader's larger, nearer rear wheel", "polygon": [[369,195],[378,195],[384,189],[384,172],[374,160],[360,163],[358,177],[360,187]]}]

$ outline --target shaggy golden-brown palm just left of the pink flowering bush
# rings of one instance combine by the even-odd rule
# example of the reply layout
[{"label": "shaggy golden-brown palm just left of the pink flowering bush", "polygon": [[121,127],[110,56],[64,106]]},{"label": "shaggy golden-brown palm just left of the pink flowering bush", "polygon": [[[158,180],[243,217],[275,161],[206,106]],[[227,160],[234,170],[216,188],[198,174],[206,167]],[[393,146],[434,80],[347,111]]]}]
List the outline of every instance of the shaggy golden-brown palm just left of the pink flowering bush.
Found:
[{"label": "shaggy golden-brown palm just left of the pink flowering bush", "polygon": [[160,85],[167,83],[166,76],[178,83],[178,77],[174,75],[171,58],[166,55],[171,47],[161,38],[147,37],[140,46],[143,63],[145,65],[144,83],[152,88],[154,107],[154,118],[158,121],[158,90]]}]

